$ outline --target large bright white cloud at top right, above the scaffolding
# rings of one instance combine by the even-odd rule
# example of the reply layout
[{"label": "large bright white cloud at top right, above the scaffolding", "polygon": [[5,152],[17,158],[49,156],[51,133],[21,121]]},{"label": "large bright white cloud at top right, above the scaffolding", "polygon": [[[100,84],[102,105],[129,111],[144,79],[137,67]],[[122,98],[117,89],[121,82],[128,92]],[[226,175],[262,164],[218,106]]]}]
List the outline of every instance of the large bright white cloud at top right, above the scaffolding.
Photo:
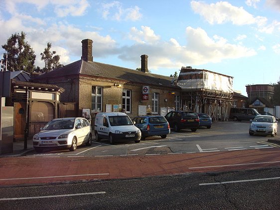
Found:
[{"label": "large bright white cloud at top right, above the scaffolding", "polygon": [[243,7],[233,6],[227,1],[216,3],[204,3],[202,1],[191,1],[191,7],[195,13],[200,14],[210,24],[223,24],[232,22],[235,25],[264,24],[266,18],[254,17]]}]

